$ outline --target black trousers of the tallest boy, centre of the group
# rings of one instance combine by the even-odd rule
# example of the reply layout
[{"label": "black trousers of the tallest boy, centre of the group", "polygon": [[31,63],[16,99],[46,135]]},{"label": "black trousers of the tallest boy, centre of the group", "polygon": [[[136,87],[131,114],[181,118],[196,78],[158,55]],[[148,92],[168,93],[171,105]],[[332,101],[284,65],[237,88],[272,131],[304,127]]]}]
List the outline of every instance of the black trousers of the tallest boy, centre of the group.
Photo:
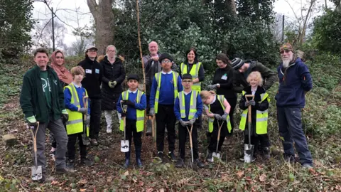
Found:
[{"label": "black trousers of the tallest boy, centre of the group", "polygon": [[158,113],[156,114],[156,148],[163,151],[163,140],[165,137],[165,129],[167,127],[168,151],[175,149],[175,114],[174,105],[158,105]]}]

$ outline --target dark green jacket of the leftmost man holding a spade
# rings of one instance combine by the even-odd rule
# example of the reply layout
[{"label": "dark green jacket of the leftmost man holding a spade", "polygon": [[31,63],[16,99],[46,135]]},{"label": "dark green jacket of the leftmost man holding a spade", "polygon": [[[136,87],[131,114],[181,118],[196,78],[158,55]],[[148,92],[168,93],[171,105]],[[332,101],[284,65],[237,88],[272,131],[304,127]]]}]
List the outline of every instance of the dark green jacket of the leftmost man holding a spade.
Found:
[{"label": "dark green jacket of the leftmost man holding a spade", "polygon": [[[51,87],[53,119],[60,119],[65,110],[64,92],[57,73],[47,66]],[[40,68],[36,65],[23,76],[23,87],[20,94],[20,105],[25,118],[36,116],[38,122],[48,122],[48,106],[44,97],[43,85],[40,80]]]}]

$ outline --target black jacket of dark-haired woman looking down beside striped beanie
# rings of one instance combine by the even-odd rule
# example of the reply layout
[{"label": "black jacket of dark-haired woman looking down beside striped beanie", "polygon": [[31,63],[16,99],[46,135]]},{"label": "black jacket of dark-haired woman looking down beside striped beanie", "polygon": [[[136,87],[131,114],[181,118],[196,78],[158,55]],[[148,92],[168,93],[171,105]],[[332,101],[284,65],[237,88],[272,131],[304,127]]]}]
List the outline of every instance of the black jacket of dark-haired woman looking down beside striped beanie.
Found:
[{"label": "black jacket of dark-haired woman looking down beside striped beanie", "polygon": [[[222,76],[226,74],[226,80],[222,79]],[[226,68],[217,68],[215,70],[215,75],[213,76],[212,85],[217,83],[220,84],[220,87],[217,87],[217,95],[224,95],[225,98],[234,98],[237,97],[237,94],[233,90],[233,78],[234,78],[234,69],[227,65]]]}]

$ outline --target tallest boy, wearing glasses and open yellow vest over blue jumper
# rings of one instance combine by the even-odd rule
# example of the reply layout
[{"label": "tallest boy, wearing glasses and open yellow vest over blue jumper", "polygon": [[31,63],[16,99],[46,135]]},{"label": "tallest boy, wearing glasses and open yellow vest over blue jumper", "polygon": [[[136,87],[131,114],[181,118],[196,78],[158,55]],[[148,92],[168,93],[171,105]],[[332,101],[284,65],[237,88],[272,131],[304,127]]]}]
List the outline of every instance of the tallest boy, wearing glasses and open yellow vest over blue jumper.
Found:
[{"label": "tallest boy, wearing glasses and open yellow vest over blue jumper", "polygon": [[173,58],[164,53],[160,56],[162,71],[156,73],[151,85],[151,97],[149,103],[151,110],[149,115],[156,114],[156,148],[158,157],[163,160],[163,140],[165,128],[168,133],[168,158],[176,161],[174,155],[175,149],[175,114],[174,102],[178,92],[183,90],[181,78],[178,73],[171,70]]}]

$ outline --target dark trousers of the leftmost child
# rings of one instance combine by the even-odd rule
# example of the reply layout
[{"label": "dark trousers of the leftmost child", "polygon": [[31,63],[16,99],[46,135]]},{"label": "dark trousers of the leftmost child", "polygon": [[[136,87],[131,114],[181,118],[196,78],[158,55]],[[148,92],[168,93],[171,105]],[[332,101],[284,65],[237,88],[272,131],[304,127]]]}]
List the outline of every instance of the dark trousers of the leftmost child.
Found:
[{"label": "dark trousers of the leftmost child", "polygon": [[80,158],[82,159],[87,157],[87,146],[83,144],[82,133],[69,134],[67,137],[69,138],[69,142],[67,142],[67,158],[75,160],[75,144],[77,142],[77,138],[78,143],[80,144]]}]

